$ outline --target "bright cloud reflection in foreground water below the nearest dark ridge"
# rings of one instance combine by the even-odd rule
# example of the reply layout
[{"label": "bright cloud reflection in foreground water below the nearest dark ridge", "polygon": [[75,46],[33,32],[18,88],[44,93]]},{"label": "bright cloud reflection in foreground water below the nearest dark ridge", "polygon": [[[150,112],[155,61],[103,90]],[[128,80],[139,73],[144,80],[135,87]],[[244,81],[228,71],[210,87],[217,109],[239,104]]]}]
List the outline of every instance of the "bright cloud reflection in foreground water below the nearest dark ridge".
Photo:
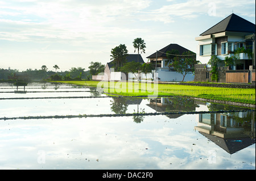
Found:
[{"label": "bright cloud reflection in foreground water below the nearest dark ridge", "polygon": [[[193,130],[195,121],[191,123],[191,115],[169,119],[169,122],[166,120],[166,116],[161,115],[145,116],[141,124],[134,123],[131,116],[1,121],[0,167],[1,169],[243,169],[245,166],[249,169],[255,168],[255,161],[250,166],[250,159],[255,158],[255,153],[253,154],[255,144],[233,154],[230,158],[230,154]],[[46,162],[43,164],[37,162],[39,150],[46,153]],[[216,150],[215,164],[208,162],[209,150]]]}]

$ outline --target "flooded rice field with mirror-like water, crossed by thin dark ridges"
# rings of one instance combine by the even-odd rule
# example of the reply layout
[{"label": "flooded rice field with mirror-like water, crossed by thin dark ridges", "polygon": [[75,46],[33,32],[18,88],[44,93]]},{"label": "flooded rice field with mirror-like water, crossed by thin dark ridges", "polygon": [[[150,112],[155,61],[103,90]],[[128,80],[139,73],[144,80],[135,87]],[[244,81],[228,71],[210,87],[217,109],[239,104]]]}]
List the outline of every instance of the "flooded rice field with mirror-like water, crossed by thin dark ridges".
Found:
[{"label": "flooded rice field with mirror-like water, crossed by thin dark ridges", "polygon": [[0,169],[255,169],[255,110],[177,96],[0,83],[0,135]]}]

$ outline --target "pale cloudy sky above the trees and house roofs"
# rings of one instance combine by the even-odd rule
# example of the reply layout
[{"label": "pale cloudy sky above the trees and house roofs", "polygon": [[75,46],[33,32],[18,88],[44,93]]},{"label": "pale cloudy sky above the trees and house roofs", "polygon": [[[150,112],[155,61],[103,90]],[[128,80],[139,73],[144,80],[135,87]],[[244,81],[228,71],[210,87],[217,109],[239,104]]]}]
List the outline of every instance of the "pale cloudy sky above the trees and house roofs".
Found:
[{"label": "pale cloudy sky above the trees and house roofs", "polygon": [[138,53],[137,37],[145,62],[171,43],[196,52],[195,37],[232,13],[255,24],[255,1],[0,0],[0,69],[89,70],[119,44]]}]

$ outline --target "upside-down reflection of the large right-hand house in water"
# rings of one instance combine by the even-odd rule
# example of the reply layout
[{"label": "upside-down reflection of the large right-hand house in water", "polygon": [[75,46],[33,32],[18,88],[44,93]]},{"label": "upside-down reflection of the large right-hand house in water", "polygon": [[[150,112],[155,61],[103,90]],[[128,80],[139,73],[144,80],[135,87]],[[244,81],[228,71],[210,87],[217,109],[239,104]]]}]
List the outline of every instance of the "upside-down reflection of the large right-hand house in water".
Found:
[{"label": "upside-down reflection of the large right-hand house in water", "polygon": [[197,131],[230,154],[255,144],[255,112],[199,114]]}]

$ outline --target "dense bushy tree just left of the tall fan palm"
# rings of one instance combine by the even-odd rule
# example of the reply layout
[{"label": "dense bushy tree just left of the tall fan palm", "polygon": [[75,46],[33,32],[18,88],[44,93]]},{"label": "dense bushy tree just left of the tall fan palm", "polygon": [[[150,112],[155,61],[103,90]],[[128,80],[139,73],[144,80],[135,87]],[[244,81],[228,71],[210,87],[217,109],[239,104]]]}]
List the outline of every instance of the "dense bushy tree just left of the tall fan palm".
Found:
[{"label": "dense bushy tree just left of the tall fan palm", "polygon": [[113,60],[114,61],[114,64],[115,64],[115,70],[119,70],[120,67],[122,67],[123,64],[125,64],[126,62],[126,57],[127,57],[127,53],[128,53],[128,50],[126,48],[126,45],[125,44],[120,44],[119,46],[113,48],[111,50],[111,57],[110,60]]}]

